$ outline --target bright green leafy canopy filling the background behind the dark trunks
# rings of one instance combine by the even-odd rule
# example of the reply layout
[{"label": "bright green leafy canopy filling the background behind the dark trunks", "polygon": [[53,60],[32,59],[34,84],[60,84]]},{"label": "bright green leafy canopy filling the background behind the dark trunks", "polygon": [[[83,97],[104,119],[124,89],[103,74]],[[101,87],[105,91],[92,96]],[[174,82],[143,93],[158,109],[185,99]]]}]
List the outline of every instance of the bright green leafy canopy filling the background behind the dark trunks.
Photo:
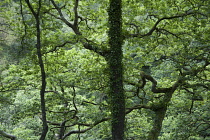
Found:
[{"label": "bright green leafy canopy filling the background behind the dark trunks", "polygon": [[[12,65],[9,65],[11,62],[7,60],[9,55],[0,60],[1,66],[4,67],[0,75],[0,104],[3,107],[1,119],[4,120],[4,124],[10,125],[11,130],[14,128],[15,134],[22,139],[27,139],[29,135],[35,133],[39,135],[38,128],[33,126],[38,127],[39,123],[35,121],[40,121],[37,96],[40,88],[40,71],[35,48],[35,22],[26,8],[26,3],[23,0],[22,2],[22,13],[19,3],[5,4],[8,3],[7,0],[1,2],[1,5],[3,4],[1,18],[6,23],[5,27],[12,29],[8,31],[9,34],[4,34],[3,39],[6,43],[1,44],[0,48],[3,48],[1,51],[7,52],[11,48],[13,52],[21,50],[24,55],[21,54],[23,59],[16,60]],[[37,1],[31,2],[36,9]],[[47,76],[48,119],[60,123],[64,119],[71,118],[74,112],[67,114],[63,112],[75,110],[73,101],[77,106],[79,119],[71,119],[68,125],[78,122],[93,123],[94,120],[109,116],[106,61],[98,54],[83,49],[80,43],[81,40],[88,40],[91,45],[109,48],[108,1],[79,1],[78,29],[82,35],[75,35],[73,30],[60,20],[59,13],[49,1],[42,2],[41,43]],[[55,0],[55,2],[61,8],[64,17],[73,23],[75,1]],[[158,87],[165,88],[172,86],[183,73],[191,71],[168,104],[169,110],[159,138],[187,139],[191,136],[192,139],[199,139],[199,136],[204,135],[203,130],[207,128],[205,121],[209,119],[210,68],[204,67],[209,63],[209,1],[123,0],[122,5],[122,30],[125,36],[124,88],[127,107],[140,103],[158,103],[163,98],[162,93],[151,92],[152,83],[149,81],[144,89],[139,91],[140,98],[137,97],[137,86],[126,83],[126,80],[138,83],[141,80],[140,71],[145,70],[144,68],[147,68],[147,72],[157,80]],[[6,6],[8,10],[5,10]],[[191,12],[194,14],[167,19]],[[148,33],[161,18],[166,19],[158,23],[151,35],[131,37],[132,34]],[[126,38],[127,36],[129,37]],[[18,46],[20,49],[17,49]],[[2,52],[1,55],[3,55]],[[196,70],[198,70],[197,73],[195,73]],[[191,107],[192,99],[195,97],[202,97],[203,101],[195,101]],[[5,104],[14,104],[14,106],[4,107]],[[10,111],[7,112],[9,109]],[[152,124],[150,116],[153,115],[152,112],[144,109],[128,114],[126,136],[130,139],[146,139]],[[11,117],[14,122],[11,122]],[[33,120],[31,117],[36,119]],[[16,127],[13,127],[13,124]],[[108,138],[109,125],[109,122],[100,124],[93,131],[81,134],[80,137],[81,139]],[[82,128],[86,127],[82,126]],[[77,130],[78,126],[71,129]],[[53,136],[53,131],[49,132],[50,136]]]}]

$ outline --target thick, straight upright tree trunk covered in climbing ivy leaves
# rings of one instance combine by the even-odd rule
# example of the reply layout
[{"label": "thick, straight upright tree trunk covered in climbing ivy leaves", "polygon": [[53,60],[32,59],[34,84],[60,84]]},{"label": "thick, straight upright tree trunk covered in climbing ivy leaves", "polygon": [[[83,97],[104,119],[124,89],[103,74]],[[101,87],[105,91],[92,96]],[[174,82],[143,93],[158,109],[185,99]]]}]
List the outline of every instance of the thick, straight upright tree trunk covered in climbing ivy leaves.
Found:
[{"label": "thick, straight upright tree trunk covered in climbing ivy leaves", "polygon": [[110,0],[109,46],[107,58],[110,70],[110,107],[112,113],[112,140],[124,139],[125,95],[122,65],[122,11],[121,0]]}]

